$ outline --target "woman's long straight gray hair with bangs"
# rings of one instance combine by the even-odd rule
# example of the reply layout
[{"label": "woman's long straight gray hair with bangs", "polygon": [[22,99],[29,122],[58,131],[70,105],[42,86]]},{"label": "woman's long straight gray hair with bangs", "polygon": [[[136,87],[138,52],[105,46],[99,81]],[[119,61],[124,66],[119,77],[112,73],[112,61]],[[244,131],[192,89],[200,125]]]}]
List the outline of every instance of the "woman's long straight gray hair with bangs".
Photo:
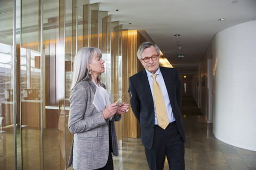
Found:
[{"label": "woman's long straight gray hair with bangs", "polygon": [[[83,47],[81,48],[76,56],[74,61],[74,72],[73,80],[71,85],[71,90],[76,86],[80,81],[90,81],[92,79],[91,74],[89,74],[89,63],[92,61],[93,52],[97,53],[101,58],[101,50],[94,47]],[[101,82],[101,74],[98,76],[98,81]]]}]

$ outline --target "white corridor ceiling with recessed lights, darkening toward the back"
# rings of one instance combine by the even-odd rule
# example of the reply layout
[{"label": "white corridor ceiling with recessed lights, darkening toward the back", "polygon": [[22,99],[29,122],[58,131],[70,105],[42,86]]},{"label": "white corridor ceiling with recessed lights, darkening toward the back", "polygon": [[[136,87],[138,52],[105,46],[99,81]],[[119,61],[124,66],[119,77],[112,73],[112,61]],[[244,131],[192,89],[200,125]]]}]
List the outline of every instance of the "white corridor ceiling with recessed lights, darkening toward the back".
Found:
[{"label": "white corridor ceiling with recessed lights, darkening toward the back", "polygon": [[[100,11],[108,11],[111,21],[119,21],[124,29],[148,34],[179,73],[193,74],[216,33],[256,20],[256,0],[232,1],[91,0],[90,4],[100,2]],[[182,60],[177,57],[179,47],[185,54]]]}]

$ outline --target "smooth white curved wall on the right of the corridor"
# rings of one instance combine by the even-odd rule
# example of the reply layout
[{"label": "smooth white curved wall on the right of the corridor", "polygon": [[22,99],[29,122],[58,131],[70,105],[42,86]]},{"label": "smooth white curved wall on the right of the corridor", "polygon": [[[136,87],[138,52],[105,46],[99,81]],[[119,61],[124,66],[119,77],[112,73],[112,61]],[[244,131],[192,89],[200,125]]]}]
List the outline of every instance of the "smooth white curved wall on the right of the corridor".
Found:
[{"label": "smooth white curved wall on the right of the corridor", "polygon": [[230,145],[256,151],[256,21],[222,30],[213,58],[213,133]]}]

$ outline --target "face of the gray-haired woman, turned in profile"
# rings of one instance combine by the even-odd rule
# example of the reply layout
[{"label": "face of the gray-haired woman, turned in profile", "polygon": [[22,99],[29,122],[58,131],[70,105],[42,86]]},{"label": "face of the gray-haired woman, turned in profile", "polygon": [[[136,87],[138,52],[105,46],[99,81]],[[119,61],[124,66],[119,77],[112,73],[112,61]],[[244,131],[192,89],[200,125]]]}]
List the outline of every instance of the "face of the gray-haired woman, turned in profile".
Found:
[{"label": "face of the gray-haired woman, turned in profile", "polygon": [[105,71],[104,68],[105,61],[99,57],[97,52],[93,52],[92,61],[89,63],[89,70],[91,74],[100,74]]}]

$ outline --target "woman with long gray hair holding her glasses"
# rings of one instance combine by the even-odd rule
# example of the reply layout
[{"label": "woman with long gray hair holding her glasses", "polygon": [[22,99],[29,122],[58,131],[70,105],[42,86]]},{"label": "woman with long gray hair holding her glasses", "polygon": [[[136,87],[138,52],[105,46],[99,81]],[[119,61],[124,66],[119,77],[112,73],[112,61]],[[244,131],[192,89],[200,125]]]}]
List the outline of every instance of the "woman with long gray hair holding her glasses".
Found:
[{"label": "woman with long gray hair holding her glasses", "polygon": [[77,169],[114,169],[111,152],[118,156],[115,121],[129,104],[111,104],[101,83],[105,61],[98,48],[80,49],[74,61],[68,128],[74,134],[68,166]]}]

